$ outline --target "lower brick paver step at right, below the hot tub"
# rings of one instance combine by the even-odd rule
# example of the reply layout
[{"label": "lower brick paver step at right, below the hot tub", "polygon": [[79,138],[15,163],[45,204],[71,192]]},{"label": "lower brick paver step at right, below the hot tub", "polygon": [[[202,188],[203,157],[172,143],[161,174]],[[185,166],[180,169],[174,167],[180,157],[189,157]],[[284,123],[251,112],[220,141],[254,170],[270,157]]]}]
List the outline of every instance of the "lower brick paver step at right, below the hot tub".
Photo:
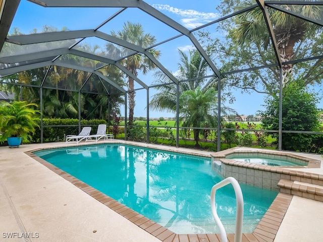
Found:
[{"label": "lower brick paver step at right, below the hot tub", "polygon": [[307,198],[319,202],[323,202],[323,186],[316,185],[317,181],[305,183],[298,180],[280,179],[278,187],[280,192],[291,194],[302,198]]}]

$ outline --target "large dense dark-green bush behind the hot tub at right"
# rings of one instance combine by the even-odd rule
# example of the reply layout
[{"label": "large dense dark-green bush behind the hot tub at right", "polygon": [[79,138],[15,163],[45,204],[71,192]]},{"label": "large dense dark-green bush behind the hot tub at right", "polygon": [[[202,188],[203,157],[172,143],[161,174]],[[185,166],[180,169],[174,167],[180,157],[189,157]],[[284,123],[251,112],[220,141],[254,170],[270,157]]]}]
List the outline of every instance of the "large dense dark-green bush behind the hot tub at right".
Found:
[{"label": "large dense dark-green bush behind the hot tub at right", "polygon": [[[317,93],[312,93],[304,82],[295,80],[283,89],[282,130],[284,131],[319,131]],[[279,97],[265,100],[265,111],[261,112],[262,127],[267,130],[279,129]],[[278,145],[278,133],[272,133]],[[317,152],[316,142],[322,135],[282,133],[282,149],[301,152]],[[320,146],[321,147],[321,146]]]}]

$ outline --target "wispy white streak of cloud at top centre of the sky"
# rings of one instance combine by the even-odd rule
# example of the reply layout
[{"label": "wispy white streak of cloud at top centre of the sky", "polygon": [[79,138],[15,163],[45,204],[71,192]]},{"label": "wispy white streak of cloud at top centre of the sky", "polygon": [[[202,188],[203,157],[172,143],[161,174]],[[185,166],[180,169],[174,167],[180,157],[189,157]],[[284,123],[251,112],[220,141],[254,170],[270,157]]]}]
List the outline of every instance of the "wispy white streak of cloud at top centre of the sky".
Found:
[{"label": "wispy white streak of cloud at top centre of the sky", "polygon": [[203,13],[192,9],[178,9],[169,5],[153,4],[152,7],[160,11],[168,11],[178,15],[181,18],[181,24],[189,29],[196,28],[219,18],[219,14],[217,13]]}]

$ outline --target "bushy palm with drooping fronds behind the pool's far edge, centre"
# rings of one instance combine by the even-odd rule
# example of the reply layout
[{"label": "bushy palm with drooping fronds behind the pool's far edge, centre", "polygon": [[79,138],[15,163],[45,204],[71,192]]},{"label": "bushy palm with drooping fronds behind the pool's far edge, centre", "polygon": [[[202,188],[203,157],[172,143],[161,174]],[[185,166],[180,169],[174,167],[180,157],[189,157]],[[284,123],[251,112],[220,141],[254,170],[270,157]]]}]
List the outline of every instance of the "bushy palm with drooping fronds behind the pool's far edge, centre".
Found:
[{"label": "bushy palm with drooping fronds behind the pool's far edge, centre", "polygon": [[[179,50],[181,63],[178,64],[179,80],[196,79],[188,82],[183,82],[180,85],[180,115],[181,119],[185,118],[183,126],[186,127],[201,127],[207,123],[210,127],[216,126],[216,113],[218,112],[217,98],[217,78],[211,78],[206,81],[203,77],[206,76],[207,63],[198,50],[190,50],[187,55]],[[157,72],[158,84],[166,84],[157,86],[158,93],[154,94],[150,107],[158,111],[170,111],[176,113],[177,89],[176,85],[169,84],[171,80],[164,74]],[[223,99],[224,100],[224,99]],[[235,112],[226,106],[222,106],[221,112]],[[235,112],[236,113],[236,112]],[[194,129],[194,140],[198,146],[199,129]]]}]

